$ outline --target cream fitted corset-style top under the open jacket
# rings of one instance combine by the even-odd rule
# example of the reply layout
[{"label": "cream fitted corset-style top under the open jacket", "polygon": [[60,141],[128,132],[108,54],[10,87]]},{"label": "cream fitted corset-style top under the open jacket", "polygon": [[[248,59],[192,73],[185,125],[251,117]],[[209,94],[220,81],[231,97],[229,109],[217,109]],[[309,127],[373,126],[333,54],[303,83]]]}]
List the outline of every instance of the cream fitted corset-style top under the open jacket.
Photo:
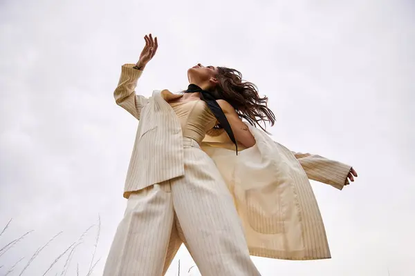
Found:
[{"label": "cream fitted corset-style top under the open jacket", "polygon": [[183,137],[192,138],[201,144],[206,132],[216,125],[216,117],[205,101],[179,101],[169,104],[180,121]]}]

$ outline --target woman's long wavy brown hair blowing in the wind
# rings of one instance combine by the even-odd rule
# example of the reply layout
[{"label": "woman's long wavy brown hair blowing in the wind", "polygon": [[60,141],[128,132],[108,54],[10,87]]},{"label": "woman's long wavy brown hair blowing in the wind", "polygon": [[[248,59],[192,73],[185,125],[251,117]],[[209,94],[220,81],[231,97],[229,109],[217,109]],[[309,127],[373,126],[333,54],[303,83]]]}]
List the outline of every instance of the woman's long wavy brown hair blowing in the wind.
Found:
[{"label": "woman's long wavy brown hair blowing in the wind", "polygon": [[271,126],[275,123],[275,115],[268,106],[268,97],[260,97],[258,88],[254,83],[244,81],[238,70],[217,67],[216,75],[219,83],[212,90],[216,99],[224,99],[237,111],[239,117],[246,119],[249,124],[256,124],[265,131],[259,123],[268,121]]}]

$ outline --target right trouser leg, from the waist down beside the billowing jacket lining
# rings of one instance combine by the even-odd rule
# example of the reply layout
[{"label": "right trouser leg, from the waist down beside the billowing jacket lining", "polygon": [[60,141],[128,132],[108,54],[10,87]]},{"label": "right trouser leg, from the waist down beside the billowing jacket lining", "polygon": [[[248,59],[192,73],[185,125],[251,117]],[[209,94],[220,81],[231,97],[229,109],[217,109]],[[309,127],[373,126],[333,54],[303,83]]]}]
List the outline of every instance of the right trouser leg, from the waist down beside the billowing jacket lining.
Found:
[{"label": "right trouser leg, from the waist down beside the billowing jacket lining", "polygon": [[203,276],[260,275],[232,195],[208,155],[185,148],[185,177],[172,181],[174,210]]}]

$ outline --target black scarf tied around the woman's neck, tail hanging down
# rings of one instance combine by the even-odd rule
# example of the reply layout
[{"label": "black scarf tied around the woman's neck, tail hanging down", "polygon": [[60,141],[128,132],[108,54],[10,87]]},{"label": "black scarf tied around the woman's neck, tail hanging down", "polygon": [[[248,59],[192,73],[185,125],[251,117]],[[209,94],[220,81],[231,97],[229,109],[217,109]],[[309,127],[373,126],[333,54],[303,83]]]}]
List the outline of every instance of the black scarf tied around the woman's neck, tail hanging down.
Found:
[{"label": "black scarf tied around the woman's neck, tail hanging down", "polygon": [[218,119],[219,124],[225,129],[226,133],[228,133],[229,138],[231,141],[235,144],[235,148],[237,149],[237,155],[238,155],[238,145],[237,140],[234,137],[234,134],[232,132],[232,128],[230,128],[230,124],[228,119],[226,119],[225,113],[223,113],[222,108],[219,106],[219,103],[217,103],[216,99],[210,94],[210,92],[203,90],[199,86],[196,86],[196,84],[191,83],[187,90],[184,91],[185,93],[194,93],[194,92],[200,92],[201,93],[201,100],[205,101],[205,103],[208,104],[208,107],[214,114],[214,117]]}]

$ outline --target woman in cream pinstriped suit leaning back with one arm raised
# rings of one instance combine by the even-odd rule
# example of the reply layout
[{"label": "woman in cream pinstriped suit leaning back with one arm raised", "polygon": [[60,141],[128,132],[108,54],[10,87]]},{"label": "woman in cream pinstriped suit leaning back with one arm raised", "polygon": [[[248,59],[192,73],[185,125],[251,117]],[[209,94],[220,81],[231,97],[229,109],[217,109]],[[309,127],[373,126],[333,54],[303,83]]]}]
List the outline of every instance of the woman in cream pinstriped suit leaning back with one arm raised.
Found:
[{"label": "woman in cream pinstriped suit leaning back with one arm raised", "polygon": [[[281,149],[279,144],[271,146],[272,140],[262,137],[263,132],[250,126],[260,121],[274,123],[273,112],[266,106],[267,98],[259,97],[255,86],[242,81],[237,70],[201,64],[187,71],[190,85],[182,93],[155,90],[149,99],[137,95],[134,88],[138,77],[158,48],[157,38],[153,39],[151,34],[145,36],[145,41],[138,63],[122,66],[114,92],[116,103],[140,120],[140,124],[124,188],[127,209],[111,246],[104,275],[164,275],[183,242],[204,276],[259,275],[250,254],[286,259],[329,257],[328,249],[321,255],[306,252],[315,243],[307,243],[310,231],[302,225],[306,221],[302,216],[308,214],[298,206],[313,205],[313,199],[298,203],[292,197],[287,202],[293,208],[287,207],[286,199],[272,199],[278,208],[280,202],[284,204],[284,210],[277,210],[278,218],[273,208],[256,202],[264,189],[267,195],[274,195],[274,191],[281,193],[288,187],[301,197],[303,192],[295,189],[296,185],[305,183],[306,177],[305,173],[302,175],[304,170],[298,172],[295,167],[299,166],[298,161],[291,152],[289,156],[277,152]],[[219,143],[215,144],[215,137]],[[218,145],[220,150],[216,150]],[[202,150],[201,146],[206,148]],[[239,152],[238,156],[234,150]],[[277,157],[270,156],[274,152]],[[281,162],[279,156],[283,155],[288,157]],[[290,162],[287,158],[291,158],[292,167],[286,165]],[[238,167],[231,166],[237,164],[235,160]],[[278,164],[281,166],[275,167]],[[340,167],[343,173],[340,181],[344,185],[351,167],[336,165],[335,168]],[[232,175],[236,170],[240,172]],[[293,176],[294,172],[295,177],[279,177],[282,173]],[[242,181],[235,181],[244,174],[248,175]],[[252,175],[255,181],[250,179]],[[233,180],[228,181],[230,178]],[[253,188],[248,188],[244,182],[247,179],[251,186],[257,181]],[[231,187],[235,183],[240,185]],[[331,185],[338,182],[333,181]],[[260,191],[255,190],[257,187]],[[243,188],[248,188],[249,193]],[[243,204],[248,208],[241,208]],[[259,220],[252,222],[252,212]],[[313,215],[316,216],[311,221],[320,226],[318,209]],[[286,220],[282,229],[287,233],[275,233],[275,229],[281,228],[275,227],[275,219]],[[316,231],[319,233],[316,237],[324,236],[317,247],[326,246],[324,228]]]}]

